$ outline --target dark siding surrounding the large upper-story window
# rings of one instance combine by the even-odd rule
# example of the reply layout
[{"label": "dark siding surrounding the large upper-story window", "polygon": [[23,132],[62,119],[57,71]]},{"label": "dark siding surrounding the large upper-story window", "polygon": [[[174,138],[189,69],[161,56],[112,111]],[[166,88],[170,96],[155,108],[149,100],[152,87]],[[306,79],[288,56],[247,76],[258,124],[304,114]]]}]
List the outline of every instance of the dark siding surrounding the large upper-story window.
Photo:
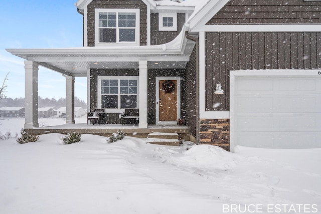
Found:
[{"label": "dark siding surrounding the large upper-story window", "polygon": [[140,45],[147,45],[147,6],[141,0],[93,0],[88,5],[87,45],[95,46],[95,9],[139,9],[140,10]]}]

